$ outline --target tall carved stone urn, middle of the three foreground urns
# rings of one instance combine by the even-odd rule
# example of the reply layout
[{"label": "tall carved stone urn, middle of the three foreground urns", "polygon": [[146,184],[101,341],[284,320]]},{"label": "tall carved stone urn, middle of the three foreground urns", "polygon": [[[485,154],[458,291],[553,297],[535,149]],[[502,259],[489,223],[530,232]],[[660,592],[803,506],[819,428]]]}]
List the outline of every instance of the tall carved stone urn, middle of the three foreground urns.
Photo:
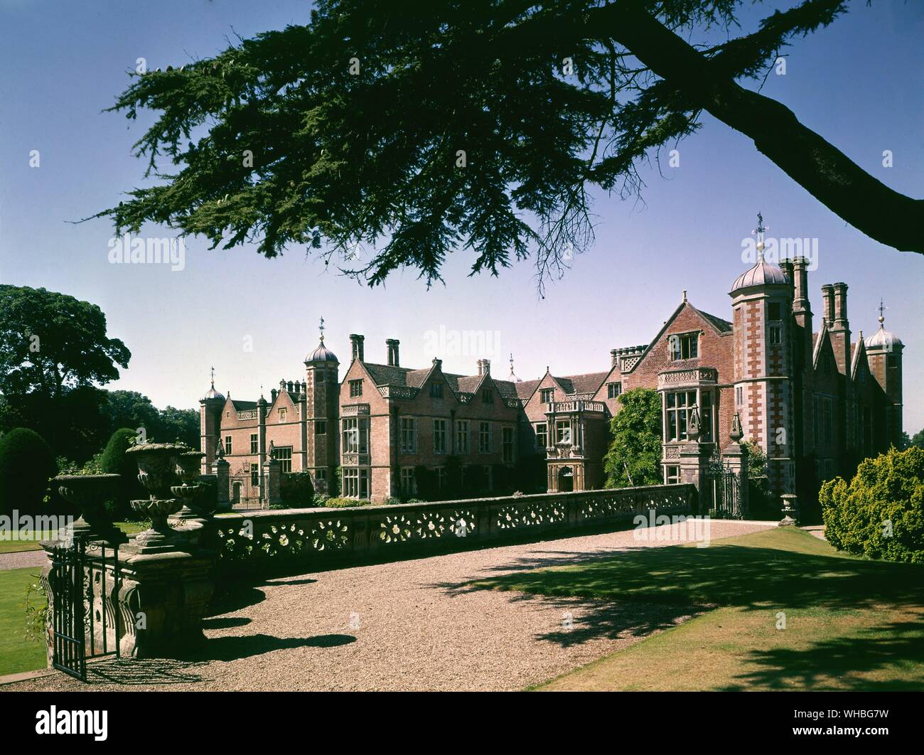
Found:
[{"label": "tall carved stone urn, middle of the three foreground urns", "polygon": [[175,550],[180,542],[167,517],[183,505],[172,497],[171,487],[176,483],[176,457],[186,450],[185,445],[149,443],[133,445],[126,451],[138,463],[138,480],[151,492],[149,498],[131,502],[135,511],[151,518],[151,529],[139,532],[130,541],[144,551]]}]

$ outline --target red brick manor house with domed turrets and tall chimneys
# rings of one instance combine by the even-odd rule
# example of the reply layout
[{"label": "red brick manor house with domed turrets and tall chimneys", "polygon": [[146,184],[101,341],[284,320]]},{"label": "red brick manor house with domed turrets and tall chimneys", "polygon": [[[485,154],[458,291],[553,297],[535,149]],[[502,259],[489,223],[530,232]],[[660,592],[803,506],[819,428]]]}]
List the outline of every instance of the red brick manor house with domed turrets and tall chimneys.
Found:
[{"label": "red brick manor house with domed turrets and tall chimneys", "polygon": [[762,248],[732,285],[730,321],[697,309],[685,291],[649,344],[614,348],[589,374],[546,369],[524,381],[512,357],[503,378],[489,359],[472,375],[444,371],[441,359],[414,369],[401,365],[397,340],[385,342],[380,363],[367,361],[362,335],[350,335],[341,380],[322,321],[304,379],[280,381],[269,399],[223,396],[213,379],[200,401],[203,471],[223,453],[232,500],[264,497],[271,453],[283,472],[310,471],[322,492],[339,468],[342,495],[375,502],[601,488],[618,396],[645,387],[662,396],[665,483],[679,481],[695,407],[700,442],[727,444],[737,414],[767,455],[772,493],[812,496],[821,480],[899,444],[904,346],[881,316],[873,335],[852,339],[845,283],[821,286],[813,323],[808,261],[773,264]]}]

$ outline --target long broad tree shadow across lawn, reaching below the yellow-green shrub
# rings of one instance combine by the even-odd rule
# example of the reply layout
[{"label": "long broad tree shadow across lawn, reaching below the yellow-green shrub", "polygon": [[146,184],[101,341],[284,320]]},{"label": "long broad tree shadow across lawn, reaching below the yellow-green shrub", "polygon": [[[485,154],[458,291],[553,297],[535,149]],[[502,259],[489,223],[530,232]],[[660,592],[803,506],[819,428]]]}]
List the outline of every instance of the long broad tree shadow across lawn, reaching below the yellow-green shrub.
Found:
[{"label": "long broad tree shadow across lawn, reaching below the yellow-green shrub", "polygon": [[637,548],[606,556],[562,554],[552,560],[542,554],[517,559],[493,571],[511,569],[515,571],[438,587],[451,594],[514,590],[609,601],[747,609],[773,605],[857,609],[883,601],[916,603],[924,599],[922,566],[734,542],[715,543],[709,548]]}]

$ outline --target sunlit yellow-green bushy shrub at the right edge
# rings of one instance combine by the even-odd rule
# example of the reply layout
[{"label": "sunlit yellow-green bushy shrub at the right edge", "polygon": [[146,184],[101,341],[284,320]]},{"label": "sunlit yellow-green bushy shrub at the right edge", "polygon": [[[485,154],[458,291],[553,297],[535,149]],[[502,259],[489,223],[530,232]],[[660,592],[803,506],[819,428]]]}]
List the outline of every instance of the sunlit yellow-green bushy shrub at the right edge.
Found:
[{"label": "sunlit yellow-green bushy shrub at the right edge", "polygon": [[924,564],[924,449],[866,459],[850,484],[825,482],[819,502],[825,537],[838,550]]}]

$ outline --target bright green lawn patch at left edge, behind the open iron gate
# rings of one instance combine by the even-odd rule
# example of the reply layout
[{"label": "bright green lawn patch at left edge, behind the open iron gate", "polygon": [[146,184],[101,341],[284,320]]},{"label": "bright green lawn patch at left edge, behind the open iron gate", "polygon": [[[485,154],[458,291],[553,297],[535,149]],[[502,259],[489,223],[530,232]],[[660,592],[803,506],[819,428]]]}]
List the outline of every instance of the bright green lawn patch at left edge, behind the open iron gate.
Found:
[{"label": "bright green lawn patch at left edge, behind the open iron gate", "polygon": [[[45,667],[45,643],[26,639],[26,588],[38,582],[39,566],[0,571],[0,676]],[[43,595],[33,595],[36,607]]]}]

